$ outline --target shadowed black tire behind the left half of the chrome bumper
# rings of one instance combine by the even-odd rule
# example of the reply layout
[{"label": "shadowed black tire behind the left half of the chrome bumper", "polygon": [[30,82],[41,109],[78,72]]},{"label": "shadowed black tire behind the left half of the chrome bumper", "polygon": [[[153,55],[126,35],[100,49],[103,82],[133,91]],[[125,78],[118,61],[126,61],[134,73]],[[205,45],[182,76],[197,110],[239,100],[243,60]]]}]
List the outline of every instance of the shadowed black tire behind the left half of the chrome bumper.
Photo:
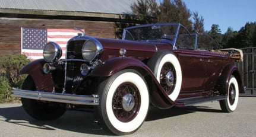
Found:
[{"label": "shadowed black tire behind the left half of the chrome bumper", "polygon": [[[28,76],[22,86],[23,90],[36,90],[33,78]],[[55,103],[49,101],[32,100],[21,98],[24,110],[37,120],[54,120],[62,116],[66,111],[65,103]]]}]

